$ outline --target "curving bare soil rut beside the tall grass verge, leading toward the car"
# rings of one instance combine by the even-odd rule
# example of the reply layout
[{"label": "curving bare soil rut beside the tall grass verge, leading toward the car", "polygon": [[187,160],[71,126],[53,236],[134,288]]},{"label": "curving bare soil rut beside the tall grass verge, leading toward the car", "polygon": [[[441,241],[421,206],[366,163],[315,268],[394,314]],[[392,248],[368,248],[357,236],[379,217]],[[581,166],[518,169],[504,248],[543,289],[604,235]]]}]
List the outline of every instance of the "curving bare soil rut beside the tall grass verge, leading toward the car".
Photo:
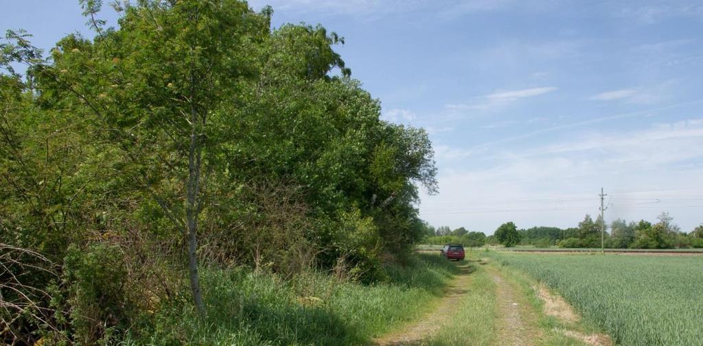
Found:
[{"label": "curving bare soil rut beside the tall grass verge, leading toward the car", "polygon": [[460,265],[460,273],[452,281],[437,308],[422,320],[408,325],[406,328],[384,335],[374,340],[378,346],[410,346],[421,345],[423,340],[429,338],[436,332],[444,321],[453,316],[461,305],[461,298],[467,293],[467,287],[471,280],[470,274],[473,267],[469,264]]}]

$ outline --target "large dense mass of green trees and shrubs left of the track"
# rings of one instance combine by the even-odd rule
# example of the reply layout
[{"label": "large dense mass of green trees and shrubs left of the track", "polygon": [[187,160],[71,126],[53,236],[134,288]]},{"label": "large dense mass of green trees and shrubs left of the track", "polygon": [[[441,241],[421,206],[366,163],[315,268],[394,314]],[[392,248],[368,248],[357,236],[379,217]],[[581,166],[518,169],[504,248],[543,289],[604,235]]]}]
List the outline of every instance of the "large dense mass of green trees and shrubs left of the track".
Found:
[{"label": "large dense mass of green trees and shrubs left of the track", "polygon": [[183,303],[185,262],[198,291],[198,260],[387,281],[383,261],[428,234],[429,137],[380,120],[337,34],[271,29],[270,8],[238,0],[136,1],[116,6],[119,29],[96,18],[101,1],[82,5],[93,39],[67,35],[49,57],[24,32],[0,46],[0,243],[46,256],[23,259],[18,284],[57,293],[51,309],[31,298],[58,317],[13,330],[117,338]]}]

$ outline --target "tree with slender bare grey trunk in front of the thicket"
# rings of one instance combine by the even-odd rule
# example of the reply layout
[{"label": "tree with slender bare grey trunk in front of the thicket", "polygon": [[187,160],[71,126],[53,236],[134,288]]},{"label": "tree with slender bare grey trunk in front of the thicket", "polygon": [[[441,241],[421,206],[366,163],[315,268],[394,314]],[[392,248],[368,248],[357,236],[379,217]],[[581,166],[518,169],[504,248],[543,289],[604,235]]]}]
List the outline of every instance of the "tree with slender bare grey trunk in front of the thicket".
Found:
[{"label": "tree with slender bare grey trunk in front of the thicket", "polygon": [[95,19],[101,1],[82,5],[98,36],[67,36],[52,65],[31,67],[42,102],[69,102],[136,168],[137,184],[187,239],[193,301],[204,314],[197,251],[205,182],[219,147],[235,135],[220,129],[241,78],[255,70],[252,43],[268,32],[268,16],[235,0],[139,1],[120,8],[114,30]]}]

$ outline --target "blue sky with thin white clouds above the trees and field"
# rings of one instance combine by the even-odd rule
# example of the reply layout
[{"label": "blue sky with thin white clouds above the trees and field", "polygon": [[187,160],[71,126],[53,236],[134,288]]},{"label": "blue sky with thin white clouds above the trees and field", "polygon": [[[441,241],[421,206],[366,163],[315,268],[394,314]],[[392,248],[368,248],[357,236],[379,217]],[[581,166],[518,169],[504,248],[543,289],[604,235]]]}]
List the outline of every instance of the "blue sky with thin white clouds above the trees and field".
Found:
[{"label": "blue sky with thin white clouds above the trees and field", "polygon": [[[320,23],[383,117],[429,131],[433,225],[703,222],[703,3],[254,0],[273,25]],[[46,48],[86,32],[77,1],[7,1],[0,29]],[[115,14],[106,10],[114,22]]]}]

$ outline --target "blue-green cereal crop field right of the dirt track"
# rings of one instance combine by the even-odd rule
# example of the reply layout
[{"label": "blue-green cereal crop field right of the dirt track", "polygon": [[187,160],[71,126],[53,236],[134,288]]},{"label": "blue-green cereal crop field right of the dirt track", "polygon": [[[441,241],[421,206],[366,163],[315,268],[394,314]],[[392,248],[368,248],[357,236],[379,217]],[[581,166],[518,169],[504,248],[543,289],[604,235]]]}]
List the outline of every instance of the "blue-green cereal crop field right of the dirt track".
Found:
[{"label": "blue-green cereal crop field right of the dirt track", "polygon": [[703,256],[486,254],[543,281],[619,345],[703,345]]}]

